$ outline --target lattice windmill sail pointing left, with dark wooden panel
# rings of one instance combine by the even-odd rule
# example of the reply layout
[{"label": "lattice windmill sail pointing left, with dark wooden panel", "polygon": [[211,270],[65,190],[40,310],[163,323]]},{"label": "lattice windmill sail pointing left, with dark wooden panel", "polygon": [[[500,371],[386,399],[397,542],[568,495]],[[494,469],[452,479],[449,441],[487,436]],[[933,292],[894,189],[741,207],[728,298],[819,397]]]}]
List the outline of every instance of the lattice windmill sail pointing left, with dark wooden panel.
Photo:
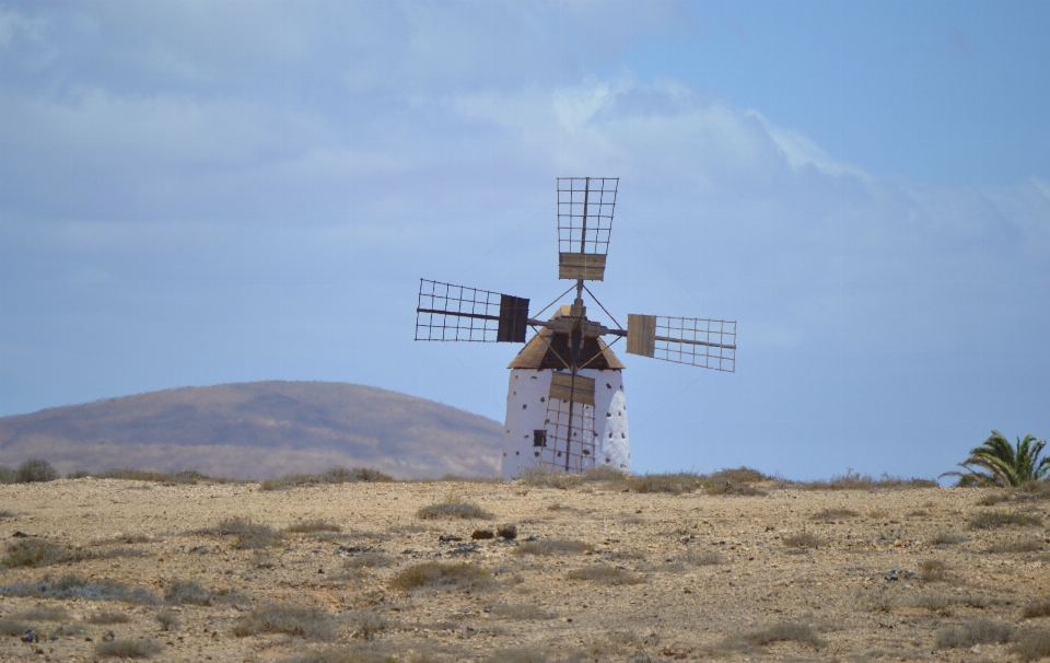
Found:
[{"label": "lattice windmill sail pointing left, with dark wooden panel", "polygon": [[525,342],[528,300],[419,280],[416,340]]}]

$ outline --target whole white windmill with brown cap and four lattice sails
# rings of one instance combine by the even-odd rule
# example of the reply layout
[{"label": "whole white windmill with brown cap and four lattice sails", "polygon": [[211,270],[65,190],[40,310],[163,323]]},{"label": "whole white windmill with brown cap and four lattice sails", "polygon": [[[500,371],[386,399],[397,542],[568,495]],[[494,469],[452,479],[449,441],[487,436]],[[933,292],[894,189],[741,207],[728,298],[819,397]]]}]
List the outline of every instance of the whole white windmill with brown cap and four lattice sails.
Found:
[{"label": "whole white windmill with brown cap and four lattice sails", "polygon": [[[536,318],[527,299],[420,279],[416,340],[524,344],[526,330],[536,332],[508,367],[506,478],[537,466],[630,472],[625,365],[610,348],[620,338],[631,354],[735,372],[735,322],[631,313],[623,329],[587,288],[605,279],[618,186],[618,177],[558,178],[558,278],[575,284]],[[573,289],[571,305],[538,319]],[[584,292],[615,327],[587,318]]]}]

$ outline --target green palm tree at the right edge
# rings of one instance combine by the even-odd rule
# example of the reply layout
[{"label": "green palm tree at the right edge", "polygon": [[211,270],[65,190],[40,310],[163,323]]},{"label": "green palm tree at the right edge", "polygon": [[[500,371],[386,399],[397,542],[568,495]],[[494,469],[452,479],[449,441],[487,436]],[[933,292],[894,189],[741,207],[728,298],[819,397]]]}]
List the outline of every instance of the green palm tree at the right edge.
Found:
[{"label": "green palm tree at the right edge", "polygon": [[1050,456],[1039,460],[1046,445],[1046,440],[1036,440],[1029,433],[1024,440],[1017,438],[1017,444],[1011,446],[1003,433],[993,430],[983,444],[970,450],[969,458],[959,463],[965,473],[946,472],[941,476],[957,476],[960,486],[1020,486],[1050,473]]}]

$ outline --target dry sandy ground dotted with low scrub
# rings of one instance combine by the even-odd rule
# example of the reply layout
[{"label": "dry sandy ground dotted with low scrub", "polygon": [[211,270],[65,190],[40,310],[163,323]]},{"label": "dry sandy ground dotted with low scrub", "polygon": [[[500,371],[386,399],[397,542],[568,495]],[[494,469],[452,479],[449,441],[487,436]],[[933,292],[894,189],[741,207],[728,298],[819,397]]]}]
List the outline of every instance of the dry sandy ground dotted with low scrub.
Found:
[{"label": "dry sandy ground dotted with low scrub", "polygon": [[[3,485],[0,659],[1050,654],[1046,486],[822,488]],[[513,534],[511,523],[516,537],[497,534]],[[38,641],[22,641],[26,628]]]}]

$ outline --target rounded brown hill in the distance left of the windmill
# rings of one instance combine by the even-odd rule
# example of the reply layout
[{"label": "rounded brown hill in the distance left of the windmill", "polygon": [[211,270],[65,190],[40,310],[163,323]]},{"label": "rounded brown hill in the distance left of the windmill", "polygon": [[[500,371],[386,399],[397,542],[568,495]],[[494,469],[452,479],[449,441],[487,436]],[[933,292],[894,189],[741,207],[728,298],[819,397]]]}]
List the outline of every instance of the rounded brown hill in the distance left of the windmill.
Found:
[{"label": "rounded brown hill in the distance left of the windmill", "polygon": [[334,382],[185,387],[0,418],[0,465],[138,467],[267,478],[335,465],[399,478],[499,473],[499,422]]}]

